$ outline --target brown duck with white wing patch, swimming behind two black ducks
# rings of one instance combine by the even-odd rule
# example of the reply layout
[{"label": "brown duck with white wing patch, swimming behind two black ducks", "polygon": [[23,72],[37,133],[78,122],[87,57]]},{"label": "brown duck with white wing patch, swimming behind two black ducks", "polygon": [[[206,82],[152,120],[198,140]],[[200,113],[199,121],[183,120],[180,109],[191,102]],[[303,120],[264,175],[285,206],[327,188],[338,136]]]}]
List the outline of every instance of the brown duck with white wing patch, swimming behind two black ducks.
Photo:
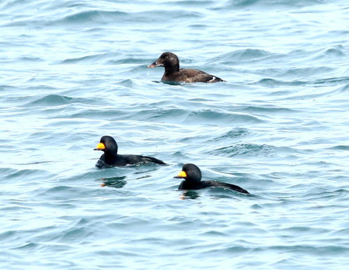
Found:
[{"label": "brown duck with white wing patch, swimming behind two black ducks", "polygon": [[165,73],[161,81],[177,81],[181,83],[216,83],[224,81],[214,75],[193,68],[179,69],[179,59],[172,52],[164,52],[151,65],[147,67],[165,67]]}]

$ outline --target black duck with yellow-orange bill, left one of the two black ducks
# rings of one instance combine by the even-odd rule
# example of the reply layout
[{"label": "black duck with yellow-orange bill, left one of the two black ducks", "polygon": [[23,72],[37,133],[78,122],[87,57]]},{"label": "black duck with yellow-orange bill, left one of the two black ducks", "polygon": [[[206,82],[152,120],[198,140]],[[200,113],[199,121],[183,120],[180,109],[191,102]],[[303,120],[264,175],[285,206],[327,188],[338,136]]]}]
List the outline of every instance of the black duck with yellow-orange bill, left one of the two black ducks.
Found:
[{"label": "black duck with yellow-orange bill, left one of the two black ducks", "polygon": [[97,148],[94,150],[101,150],[104,152],[96,163],[98,168],[126,166],[128,164],[147,162],[165,164],[165,162],[154,157],[144,157],[135,154],[117,154],[117,142],[111,136],[103,136],[100,143],[98,143]]}]

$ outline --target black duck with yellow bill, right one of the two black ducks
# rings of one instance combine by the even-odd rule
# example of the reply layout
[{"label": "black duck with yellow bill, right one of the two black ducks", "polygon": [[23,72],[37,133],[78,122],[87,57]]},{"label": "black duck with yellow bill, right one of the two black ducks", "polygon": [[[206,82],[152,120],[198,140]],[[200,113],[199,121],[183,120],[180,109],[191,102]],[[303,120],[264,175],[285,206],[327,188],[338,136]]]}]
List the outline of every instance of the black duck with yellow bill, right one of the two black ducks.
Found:
[{"label": "black duck with yellow bill, right one of the two black ducks", "polygon": [[174,178],[184,178],[184,181],[181,182],[178,189],[205,189],[206,187],[213,186],[232,189],[241,193],[249,193],[240,186],[235,186],[235,184],[228,184],[219,181],[201,181],[201,170],[194,164],[184,164],[181,172]]}]

